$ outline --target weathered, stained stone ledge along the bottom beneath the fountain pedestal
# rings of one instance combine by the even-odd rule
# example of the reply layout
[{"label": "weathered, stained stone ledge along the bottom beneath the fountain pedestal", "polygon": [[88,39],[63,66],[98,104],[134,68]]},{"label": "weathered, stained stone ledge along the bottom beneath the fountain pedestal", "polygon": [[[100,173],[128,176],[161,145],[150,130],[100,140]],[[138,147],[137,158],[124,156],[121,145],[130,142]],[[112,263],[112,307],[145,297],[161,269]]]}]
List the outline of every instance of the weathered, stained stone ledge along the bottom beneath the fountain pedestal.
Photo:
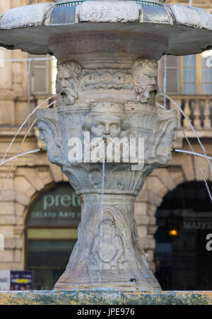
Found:
[{"label": "weathered, stained stone ledge along the bottom beneath the fountain pedestal", "polygon": [[6,291],[0,305],[211,305],[211,291]]}]

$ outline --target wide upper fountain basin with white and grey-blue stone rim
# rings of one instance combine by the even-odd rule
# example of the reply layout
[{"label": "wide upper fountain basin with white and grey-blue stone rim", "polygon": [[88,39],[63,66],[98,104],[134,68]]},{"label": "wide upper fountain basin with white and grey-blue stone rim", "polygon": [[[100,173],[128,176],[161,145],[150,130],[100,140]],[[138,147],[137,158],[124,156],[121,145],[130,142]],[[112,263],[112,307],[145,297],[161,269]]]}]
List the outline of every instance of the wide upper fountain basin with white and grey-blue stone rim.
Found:
[{"label": "wide upper fountain basin with white and grey-blue stone rim", "polygon": [[[115,27],[114,27],[115,23]],[[84,1],[76,6],[36,4],[9,10],[1,17],[0,45],[32,54],[52,53],[49,39],[77,32],[122,32],[166,39],[162,54],[197,54],[212,45],[212,16],[201,8],[135,1]],[[155,45],[155,40],[152,44]]]}]

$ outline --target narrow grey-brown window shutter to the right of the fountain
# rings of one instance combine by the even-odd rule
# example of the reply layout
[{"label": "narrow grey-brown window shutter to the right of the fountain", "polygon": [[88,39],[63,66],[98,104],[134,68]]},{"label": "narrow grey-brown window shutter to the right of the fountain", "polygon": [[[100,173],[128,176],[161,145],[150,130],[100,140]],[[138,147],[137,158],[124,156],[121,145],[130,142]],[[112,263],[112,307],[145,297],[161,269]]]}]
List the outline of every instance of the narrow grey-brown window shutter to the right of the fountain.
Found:
[{"label": "narrow grey-brown window shutter to the right of the fountain", "polygon": [[167,93],[179,94],[179,57],[167,56]]}]

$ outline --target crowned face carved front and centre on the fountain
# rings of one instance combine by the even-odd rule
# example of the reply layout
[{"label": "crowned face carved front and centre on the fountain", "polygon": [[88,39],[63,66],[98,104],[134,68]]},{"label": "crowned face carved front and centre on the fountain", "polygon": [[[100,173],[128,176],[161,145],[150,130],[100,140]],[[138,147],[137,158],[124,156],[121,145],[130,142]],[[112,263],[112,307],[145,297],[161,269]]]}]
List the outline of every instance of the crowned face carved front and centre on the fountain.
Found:
[{"label": "crowned face carved front and centre on the fountain", "polygon": [[104,114],[93,117],[90,124],[91,138],[118,138],[121,133],[119,116]]}]

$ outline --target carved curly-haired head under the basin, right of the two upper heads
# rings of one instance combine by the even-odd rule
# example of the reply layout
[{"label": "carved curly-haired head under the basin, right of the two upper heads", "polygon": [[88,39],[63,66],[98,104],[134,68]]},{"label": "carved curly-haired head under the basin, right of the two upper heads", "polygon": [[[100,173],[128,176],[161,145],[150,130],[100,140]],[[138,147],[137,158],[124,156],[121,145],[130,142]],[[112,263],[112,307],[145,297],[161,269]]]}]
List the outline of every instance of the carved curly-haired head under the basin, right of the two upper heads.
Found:
[{"label": "carved curly-haired head under the basin, right of the two upper heads", "polygon": [[133,71],[137,100],[152,104],[158,91],[158,63],[151,59],[137,59]]}]

